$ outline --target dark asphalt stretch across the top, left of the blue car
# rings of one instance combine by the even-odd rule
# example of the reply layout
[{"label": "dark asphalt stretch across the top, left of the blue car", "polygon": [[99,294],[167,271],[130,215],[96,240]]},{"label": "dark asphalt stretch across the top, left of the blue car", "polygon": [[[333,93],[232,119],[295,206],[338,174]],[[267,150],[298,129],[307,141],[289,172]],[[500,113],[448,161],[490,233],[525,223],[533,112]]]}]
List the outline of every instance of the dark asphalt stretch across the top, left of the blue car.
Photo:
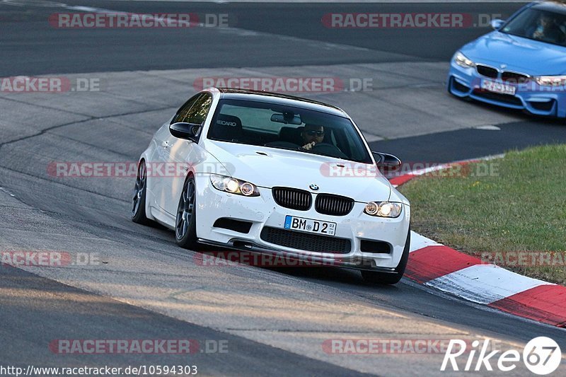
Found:
[{"label": "dark asphalt stretch across the top, left of the blue car", "polygon": [[[17,1],[14,1],[17,2]],[[23,2],[23,1],[22,1]],[[57,3],[57,1],[53,1]],[[70,74],[93,71],[214,68],[221,66],[295,66],[447,60],[483,28],[350,29],[326,28],[327,13],[469,13],[509,16],[521,3],[504,4],[202,4],[151,1],[61,1],[132,13],[224,13],[228,25],[270,33],[245,37],[221,28],[168,30],[57,29],[45,22],[52,13],[72,12],[58,6],[2,6],[0,66],[4,76]],[[1,5],[0,5],[1,6]],[[6,22],[7,21],[7,22]],[[278,35],[291,38],[280,40]],[[297,39],[295,39],[297,38]],[[316,45],[308,41],[317,41]],[[345,53],[324,43],[344,44]],[[386,53],[388,52],[388,54]]]}]

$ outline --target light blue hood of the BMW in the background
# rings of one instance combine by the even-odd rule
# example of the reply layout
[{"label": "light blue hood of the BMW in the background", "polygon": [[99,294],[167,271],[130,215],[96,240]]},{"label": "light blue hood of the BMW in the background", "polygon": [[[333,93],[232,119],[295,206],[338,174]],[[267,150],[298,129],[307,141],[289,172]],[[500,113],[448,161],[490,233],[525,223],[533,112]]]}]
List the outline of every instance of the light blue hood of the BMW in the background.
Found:
[{"label": "light blue hood of the BMW in the background", "polygon": [[566,47],[493,31],[460,50],[468,59],[531,76],[566,74]]}]

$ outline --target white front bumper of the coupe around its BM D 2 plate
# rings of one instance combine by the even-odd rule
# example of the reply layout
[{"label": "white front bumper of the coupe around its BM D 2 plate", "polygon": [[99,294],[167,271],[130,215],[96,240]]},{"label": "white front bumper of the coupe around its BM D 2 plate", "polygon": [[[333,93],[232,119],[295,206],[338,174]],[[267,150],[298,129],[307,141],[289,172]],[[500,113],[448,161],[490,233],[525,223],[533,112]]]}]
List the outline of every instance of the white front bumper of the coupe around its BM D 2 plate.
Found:
[{"label": "white front bumper of the coupe around its BM D 2 plate", "polygon": [[[319,214],[313,207],[298,211],[280,207],[272,197],[272,190],[259,187],[259,197],[243,197],[221,192],[212,187],[209,175],[197,175],[197,237],[202,243],[250,253],[284,255],[291,259],[328,264],[329,260],[342,267],[374,269],[394,272],[399,264],[409,231],[410,206],[403,204],[403,211],[396,219],[369,216],[364,213],[365,204],[356,202],[350,214],[330,216]],[[313,202],[314,197],[313,193]],[[285,216],[299,216],[319,221],[336,223],[335,238],[350,240],[347,253],[317,253],[284,247],[262,239],[264,227],[284,228]],[[230,218],[251,223],[250,231],[242,233],[214,226],[220,218]],[[301,233],[298,231],[286,231]],[[310,234],[310,233],[309,233]],[[325,236],[320,236],[325,237]],[[330,237],[330,236],[328,236]],[[377,240],[389,245],[388,253],[367,253],[361,251],[362,240]]]}]

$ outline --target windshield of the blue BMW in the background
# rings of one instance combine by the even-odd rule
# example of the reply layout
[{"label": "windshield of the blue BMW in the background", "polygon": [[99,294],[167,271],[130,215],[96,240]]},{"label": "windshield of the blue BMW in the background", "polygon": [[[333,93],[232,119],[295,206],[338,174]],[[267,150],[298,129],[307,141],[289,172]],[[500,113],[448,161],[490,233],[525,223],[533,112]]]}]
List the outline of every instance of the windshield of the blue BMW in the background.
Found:
[{"label": "windshield of the blue BMW in the background", "polygon": [[519,13],[501,30],[503,33],[566,46],[566,14],[537,7]]}]

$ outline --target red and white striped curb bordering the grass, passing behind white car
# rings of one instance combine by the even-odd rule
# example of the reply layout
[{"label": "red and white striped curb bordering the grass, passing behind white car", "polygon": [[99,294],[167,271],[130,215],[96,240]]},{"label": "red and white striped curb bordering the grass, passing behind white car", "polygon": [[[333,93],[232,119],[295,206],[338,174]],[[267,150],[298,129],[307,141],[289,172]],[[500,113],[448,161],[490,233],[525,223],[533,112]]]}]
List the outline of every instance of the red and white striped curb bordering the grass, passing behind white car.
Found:
[{"label": "red and white striped curb bordering the grass, passing behind white car", "polygon": [[[478,161],[478,160],[475,160]],[[461,161],[458,163],[468,163]],[[453,164],[434,167],[447,168]],[[424,173],[391,179],[402,185]],[[405,276],[417,283],[480,303],[490,308],[549,325],[566,327],[566,286],[525,277],[411,232]]]}]

